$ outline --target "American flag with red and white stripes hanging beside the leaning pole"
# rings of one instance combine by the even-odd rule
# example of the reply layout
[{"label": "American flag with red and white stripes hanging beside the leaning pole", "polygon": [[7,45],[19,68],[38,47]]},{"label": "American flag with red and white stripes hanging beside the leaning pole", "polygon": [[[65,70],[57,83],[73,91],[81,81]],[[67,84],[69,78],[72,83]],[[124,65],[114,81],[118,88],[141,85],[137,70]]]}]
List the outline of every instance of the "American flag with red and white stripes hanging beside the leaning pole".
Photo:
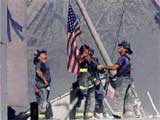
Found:
[{"label": "American flag with red and white stripes hanging beside the leaning pole", "polygon": [[79,72],[78,45],[76,38],[81,34],[80,25],[73,11],[71,4],[68,6],[68,22],[67,22],[67,70],[77,74]]}]

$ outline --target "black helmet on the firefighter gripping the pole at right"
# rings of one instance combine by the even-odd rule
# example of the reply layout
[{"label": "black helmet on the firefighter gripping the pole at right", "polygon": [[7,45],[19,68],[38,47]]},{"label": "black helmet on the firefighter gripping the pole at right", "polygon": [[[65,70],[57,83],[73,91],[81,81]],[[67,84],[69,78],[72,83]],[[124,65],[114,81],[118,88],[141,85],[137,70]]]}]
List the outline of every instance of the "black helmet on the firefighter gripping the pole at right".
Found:
[{"label": "black helmet on the firefighter gripping the pole at right", "polygon": [[121,43],[118,44],[118,46],[123,46],[125,49],[127,49],[128,54],[133,53],[130,43],[126,40],[123,40]]}]

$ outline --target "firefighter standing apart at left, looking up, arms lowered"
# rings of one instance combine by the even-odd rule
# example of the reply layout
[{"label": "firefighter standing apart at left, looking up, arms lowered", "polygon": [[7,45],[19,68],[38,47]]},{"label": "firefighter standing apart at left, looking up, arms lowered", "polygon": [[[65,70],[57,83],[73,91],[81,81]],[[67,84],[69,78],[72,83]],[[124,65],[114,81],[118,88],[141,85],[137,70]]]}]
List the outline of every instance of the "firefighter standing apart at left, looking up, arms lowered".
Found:
[{"label": "firefighter standing apart at left, looking up, arms lowered", "polygon": [[36,72],[34,92],[38,103],[39,119],[49,119],[53,117],[53,114],[48,101],[51,75],[50,68],[47,65],[47,51],[36,50],[33,63]]}]

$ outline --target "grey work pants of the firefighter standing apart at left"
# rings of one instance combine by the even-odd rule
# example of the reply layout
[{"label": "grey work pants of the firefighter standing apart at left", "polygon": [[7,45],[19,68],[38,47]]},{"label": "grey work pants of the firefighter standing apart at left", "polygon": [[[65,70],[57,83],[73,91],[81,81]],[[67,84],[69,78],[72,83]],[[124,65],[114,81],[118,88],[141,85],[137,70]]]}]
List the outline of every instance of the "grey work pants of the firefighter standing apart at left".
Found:
[{"label": "grey work pants of the firefighter standing apart at left", "polygon": [[50,91],[46,88],[39,89],[39,92],[36,93],[36,99],[38,102],[39,114],[44,114],[46,119],[53,117],[52,107],[48,101]]}]

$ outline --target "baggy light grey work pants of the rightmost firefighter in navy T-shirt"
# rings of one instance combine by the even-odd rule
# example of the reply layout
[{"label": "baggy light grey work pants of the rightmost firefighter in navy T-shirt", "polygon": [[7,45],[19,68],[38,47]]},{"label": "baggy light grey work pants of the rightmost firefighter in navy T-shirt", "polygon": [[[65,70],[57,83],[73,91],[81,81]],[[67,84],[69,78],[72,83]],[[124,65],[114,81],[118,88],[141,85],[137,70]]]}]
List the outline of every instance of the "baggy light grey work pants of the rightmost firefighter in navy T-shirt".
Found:
[{"label": "baggy light grey work pants of the rightmost firefighter in navy T-shirt", "polygon": [[134,116],[134,100],[135,95],[132,90],[132,81],[129,77],[118,77],[114,81],[113,86],[116,88],[115,99],[112,104],[113,110],[117,112],[117,115]]}]

